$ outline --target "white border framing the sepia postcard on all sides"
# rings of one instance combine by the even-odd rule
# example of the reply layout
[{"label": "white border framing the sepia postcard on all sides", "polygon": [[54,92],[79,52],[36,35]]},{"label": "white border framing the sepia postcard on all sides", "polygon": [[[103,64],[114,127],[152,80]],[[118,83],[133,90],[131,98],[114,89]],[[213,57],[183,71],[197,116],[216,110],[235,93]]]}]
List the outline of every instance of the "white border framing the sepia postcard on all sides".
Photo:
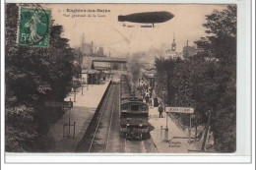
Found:
[{"label": "white border framing the sepia postcard on all sides", "polygon": [[[59,3],[57,0],[7,0],[8,3],[25,3],[25,2],[36,2],[36,3]],[[78,153],[66,153],[66,154],[46,154],[42,155],[41,153],[33,154],[14,154],[14,153],[5,153],[4,151],[4,94],[5,94],[5,68],[4,68],[4,32],[5,30],[1,27],[1,162],[5,157],[6,162],[30,162],[30,163],[43,163],[43,162],[73,162],[73,163],[89,163],[89,162],[161,162],[161,163],[177,163],[177,162],[232,162],[232,163],[249,163],[251,162],[252,155],[252,143],[251,143],[251,128],[255,129],[255,113],[251,110],[251,62],[255,64],[255,59],[251,58],[251,2],[249,0],[140,0],[140,1],[117,1],[117,0],[108,0],[107,2],[103,0],[62,0],[61,3],[203,3],[203,4],[236,4],[238,13],[237,13],[237,150],[234,154],[224,154],[221,155],[211,155],[211,154],[160,154],[152,156],[141,156],[141,155],[105,155],[98,154],[95,156],[86,156],[79,155]],[[1,25],[4,27],[4,3],[1,1]],[[254,17],[254,15],[252,15]],[[245,20],[244,20],[245,19]],[[245,54],[245,55],[244,55]],[[253,55],[255,56],[255,55]],[[254,65],[255,68],[255,65]],[[254,77],[253,77],[254,78]],[[255,81],[255,80],[254,80]],[[254,91],[255,92],[255,91]],[[253,92],[253,94],[255,94]],[[255,97],[255,96],[254,96]],[[255,102],[255,100],[254,100]],[[253,103],[254,103],[253,102]],[[251,124],[251,121],[254,123]],[[245,138],[242,138],[240,135],[245,134]],[[255,136],[254,136],[255,137]],[[255,142],[253,142],[255,143]],[[254,148],[254,146],[253,146]],[[254,149],[253,149],[254,150]],[[50,155],[50,156],[49,156]],[[201,155],[201,156],[199,156]]]}]

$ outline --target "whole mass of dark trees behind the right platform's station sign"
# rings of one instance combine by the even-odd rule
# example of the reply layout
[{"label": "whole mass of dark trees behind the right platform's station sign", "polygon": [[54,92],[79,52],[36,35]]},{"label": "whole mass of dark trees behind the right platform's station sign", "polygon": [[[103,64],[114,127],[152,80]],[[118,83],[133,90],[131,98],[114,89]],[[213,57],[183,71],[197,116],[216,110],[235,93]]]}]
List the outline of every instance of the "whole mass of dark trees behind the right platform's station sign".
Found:
[{"label": "whole mass of dark trees behind the right platform's station sign", "polygon": [[[195,41],[197,54],[185,59],[156,59],[157,93],[167,90],[167,104],[193,105],[206,124],[213,110],[211,131],[215,149],[232,152],[236,147],[236,6],[206,16],[208,36]],[[174,115],[189,125],[186,115]]]}]

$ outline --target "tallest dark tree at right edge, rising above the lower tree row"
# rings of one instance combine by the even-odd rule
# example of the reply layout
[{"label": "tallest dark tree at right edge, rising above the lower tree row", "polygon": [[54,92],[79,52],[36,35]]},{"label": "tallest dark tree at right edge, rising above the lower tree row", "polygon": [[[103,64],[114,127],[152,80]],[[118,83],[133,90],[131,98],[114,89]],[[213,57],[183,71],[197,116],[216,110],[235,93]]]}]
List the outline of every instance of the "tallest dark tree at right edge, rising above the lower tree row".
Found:
[{"label": "tallest dark tree at right edge, rising above the lower tree row", "polygon": [[[236,147],[236,6],[229,5],[224,11],[215,10],[206,16],[209,36],[196,41],[203,56],[214,65],[207,70],[212,78],[212,94],[216,99],[211,105],[215,114],[212,130],[218,151],[231,152]],[[217,109],[217,105],[221,109]]]}]

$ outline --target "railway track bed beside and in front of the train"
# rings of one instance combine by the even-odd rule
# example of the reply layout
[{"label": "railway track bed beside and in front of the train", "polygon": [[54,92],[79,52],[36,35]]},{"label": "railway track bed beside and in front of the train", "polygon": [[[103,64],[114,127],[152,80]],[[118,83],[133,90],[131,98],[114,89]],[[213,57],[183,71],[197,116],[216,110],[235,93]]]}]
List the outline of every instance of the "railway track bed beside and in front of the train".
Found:
[{"label": "railway track bed beside and in front of the train", "polygon": [[110,85],[99,110],[90,140],[80,144],[79,152],[154,153],[157,148],[151,138],[128,141],[119,136],[119,85]]}]

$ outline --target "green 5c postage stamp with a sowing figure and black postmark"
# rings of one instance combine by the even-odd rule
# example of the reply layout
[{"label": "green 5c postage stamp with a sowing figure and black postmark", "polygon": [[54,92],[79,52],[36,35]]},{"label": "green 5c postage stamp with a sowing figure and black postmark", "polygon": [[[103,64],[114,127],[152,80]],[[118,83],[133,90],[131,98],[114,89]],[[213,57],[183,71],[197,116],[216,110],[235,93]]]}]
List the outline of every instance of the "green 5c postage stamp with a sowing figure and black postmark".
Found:
[{"label": "green 5c postage stamp with a sowing figure and black postmark", "polygon": [[49,45],[50,17],[50,10],[21,7],[18,44],[47,47]]}]

